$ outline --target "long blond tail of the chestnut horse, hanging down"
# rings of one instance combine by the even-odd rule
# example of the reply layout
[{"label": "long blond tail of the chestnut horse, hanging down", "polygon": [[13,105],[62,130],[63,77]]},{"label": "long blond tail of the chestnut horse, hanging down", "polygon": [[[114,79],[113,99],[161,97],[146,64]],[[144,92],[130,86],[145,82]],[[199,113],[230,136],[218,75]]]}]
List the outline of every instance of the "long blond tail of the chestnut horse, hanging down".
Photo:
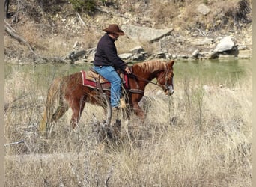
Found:
[{"label": "long blond tail of the chestnut horse, hanging down", "polygon": [[39,126],[39,131],[42,135],[46,135],[49,132],[49,125],[52,123],[52,114],[54,112],[54,103],[60,98],[61,82],[61,77],[54,79],[47,93],[46,108],[44,109],[43,119],[40,121]]}]

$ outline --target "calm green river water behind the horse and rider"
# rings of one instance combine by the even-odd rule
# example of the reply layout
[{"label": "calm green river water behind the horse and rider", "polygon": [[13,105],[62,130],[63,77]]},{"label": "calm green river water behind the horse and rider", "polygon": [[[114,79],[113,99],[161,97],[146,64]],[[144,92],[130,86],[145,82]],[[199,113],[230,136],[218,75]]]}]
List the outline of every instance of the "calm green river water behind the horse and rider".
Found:
[{"label": "calm green river water behind the horse and rider", "polygon": [[[64,76],[79,70],[88,70],[91,64],[5,64],[5,79],[12,79],[19,72],[31,74],[32,79],[41,86],[49,87],[56,76]],[[251,73],[250,73],[251,72]],[[252,75],[251,59],[181,61],[174,64],[174,82],[183,79],[197,80],[203,85],[214,82],[216,85],[234,85],[247,75]]]}]

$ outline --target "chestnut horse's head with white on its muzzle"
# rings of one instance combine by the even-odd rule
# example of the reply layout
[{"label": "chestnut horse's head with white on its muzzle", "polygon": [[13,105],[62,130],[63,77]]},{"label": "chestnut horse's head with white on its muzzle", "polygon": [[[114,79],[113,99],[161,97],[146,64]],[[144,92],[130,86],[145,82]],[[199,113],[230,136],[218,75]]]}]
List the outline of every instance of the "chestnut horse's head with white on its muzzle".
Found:
[{"label": "chestnut horse's head with white on its muzzle", "polygon": [[165,64],[164,70],[160,71],[156,77],[158,85],[166,95],[171,96],[174,93],[174,60],[168,61]]}]

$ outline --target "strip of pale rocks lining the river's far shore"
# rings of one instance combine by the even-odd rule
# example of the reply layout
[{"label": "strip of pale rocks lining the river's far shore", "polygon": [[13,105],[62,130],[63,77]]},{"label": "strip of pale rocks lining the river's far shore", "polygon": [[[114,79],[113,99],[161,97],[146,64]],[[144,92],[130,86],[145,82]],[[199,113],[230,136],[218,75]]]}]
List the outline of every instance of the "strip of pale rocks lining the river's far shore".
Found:
[{"label": "strip of pale rocks lining the river's far shore", "polygon": [[[122,25],[127,37],[138,42],[157,43],[159,51],[148,53],[142,46],[135,46],[119,56],[126,61],[144,61],[152,58],[162,59],[213,59],[213,58],[252,58],[252,25],[249,31],[237,34],[216,34],[213,37],[196,35],[193,37],[172,34],[174,28],[153,29],[136,25]],[[180,44],[180,50],[171,50],[170,43]],[[93,61],[96,48],[85,52],[85,61]]]}]

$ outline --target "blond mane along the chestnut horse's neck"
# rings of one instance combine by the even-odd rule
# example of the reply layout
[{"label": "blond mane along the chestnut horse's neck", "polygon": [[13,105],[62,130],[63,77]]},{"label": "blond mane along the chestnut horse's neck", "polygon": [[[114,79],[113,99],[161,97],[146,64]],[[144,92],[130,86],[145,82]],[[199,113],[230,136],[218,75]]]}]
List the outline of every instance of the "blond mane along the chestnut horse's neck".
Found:
[{"label": "blond mane along the chestnut horse's neck", "polygon": [[142,72],[154,72],[156,70],[162,70],[165,68],[165,62],[163,61],[145,61],[138,64],[134,64],[134,67],[138,67]]}]

